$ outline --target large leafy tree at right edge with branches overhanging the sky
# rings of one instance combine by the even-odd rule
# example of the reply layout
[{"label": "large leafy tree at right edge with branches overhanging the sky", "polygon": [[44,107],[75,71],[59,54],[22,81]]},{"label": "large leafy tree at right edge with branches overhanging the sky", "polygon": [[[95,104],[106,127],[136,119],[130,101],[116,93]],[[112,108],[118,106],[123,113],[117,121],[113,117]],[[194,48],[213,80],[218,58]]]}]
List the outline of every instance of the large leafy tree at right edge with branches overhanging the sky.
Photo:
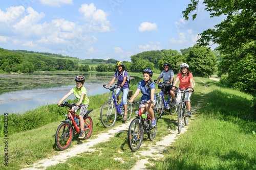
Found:
[{"label": "large leafy tree at right edge with branches overhanging the sky", "polygon": [[[191,0],[191,4],[182,12],[186,20],[188,20],[189,14],[197,8],[198,3],[198,0]],[[255,72],[254,69],[250,68],[255,68],[256,63],[256,3],[251,0],[204,0],[203,4],[205,4],[205,10],[211,12],[210,17],[227,15],[227,18],[216,25],[215,29],[203,31],[197,42],[201,46],[210,45],[210,42],[219,44],[217,50],[220,50],[223,55],[219,68],[221,66],[226,68],[221,69],[223,74],[228,75],[223,79],[225,82],[229,82],[229,86],[234,87],[234,84],[231,83],[234,73],[239,73],[235,75],[236,80],[240,81],[248,75],[254,75]],[[196,15],[193,15],[193,20]],[[249,59],[249,56],[253,58]],[[241,63],[246,63],[243,64],[244,67],[242,68],[246,71],[239,70]],[[255,87],[255,80],[253,79],[247,79],[243,83],[247,87],[251,85]],[[247,87],[238,87],[238,89],[253,95],[254,107],[256,108],[256,92]]]}]

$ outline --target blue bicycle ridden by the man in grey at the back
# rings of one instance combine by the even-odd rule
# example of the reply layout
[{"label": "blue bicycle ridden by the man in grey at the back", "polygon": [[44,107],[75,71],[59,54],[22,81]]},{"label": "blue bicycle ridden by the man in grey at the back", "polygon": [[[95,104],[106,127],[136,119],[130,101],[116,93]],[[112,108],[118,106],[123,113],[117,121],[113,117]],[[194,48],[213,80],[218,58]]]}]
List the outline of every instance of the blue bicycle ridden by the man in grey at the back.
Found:
[{"label": "blue bicycle ridden by the man in grey at the back", "polygon": [[[154,82],[156,82],[157,80],[154,80]],[[162,116],[162,113],[163,111],[167,111],[172,115],[174,113],[176,113],[177,111],[177,105],[176,105],[176,102],[175,102],[175,105],[174,106],[171,106],[170,103],[172,103],[173,101],[173,98],[172,96],[170,96],[170,92],[168,91],[167,94],[168,94],[168,99],[167,101],[164,100],[164,95],[163,95],[163,91],[162,89],[165,87],[165,86],[170,86],[170,88],[172,88],[172,85],[168,84],[168,80],[166,80],[165,82],[159,82],[158,84],[158,88],[161,89],[161,92],[160,93],[157,93],[157,103],[154,107],[154,113],[156,113],[156,117],[157,119],[159,119],[161,116]],[[174,86],[175,88],[178,88],[176,86]],[[167,95],[166,94],[166,95]],[[177,95],[177,92],[175,92],[175,99],[176,100],[176,95]]]}]

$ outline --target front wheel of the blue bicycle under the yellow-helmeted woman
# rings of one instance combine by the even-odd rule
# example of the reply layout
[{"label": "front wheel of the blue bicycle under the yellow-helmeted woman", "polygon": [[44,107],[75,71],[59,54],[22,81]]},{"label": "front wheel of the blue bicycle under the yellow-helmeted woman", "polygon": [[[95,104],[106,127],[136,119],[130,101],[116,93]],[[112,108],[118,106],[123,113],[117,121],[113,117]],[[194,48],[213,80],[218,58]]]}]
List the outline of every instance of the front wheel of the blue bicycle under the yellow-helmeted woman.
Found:
[{"label": "front wheel of the blue bicycle under the yellow-helmeted woman", "polygon": [[105,128],[111,128],[116,123],[116,107],[111,101],[107,101],[103,104],[100,111],[101,123]]}]

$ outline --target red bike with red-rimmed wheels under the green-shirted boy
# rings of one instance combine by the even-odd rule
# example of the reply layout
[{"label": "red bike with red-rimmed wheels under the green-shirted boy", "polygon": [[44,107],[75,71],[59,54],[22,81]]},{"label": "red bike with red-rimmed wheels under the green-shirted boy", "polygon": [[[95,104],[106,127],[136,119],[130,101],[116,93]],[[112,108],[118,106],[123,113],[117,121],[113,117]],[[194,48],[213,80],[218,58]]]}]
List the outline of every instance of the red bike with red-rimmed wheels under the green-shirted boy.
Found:
[{"label": "red bike with red-rimmed wheels under the green-shirted boy", "polygon": [[[68,102],[62,103],[60,107],[67,107],[69,108],[69,114],[65,114],[66,119],[61,121],[62,123],[59,125],[56,134],[55,134],[55,143],[59,150],[66,150],[69,148],[71,141],[73,139],[73,134],[78,136],[79,135],[79,116],[72,112],[72,107],[76,106],[76,103],[69,104]],[[79,108],[80,109],[80,108]],[[88,115],[93,109],[86,112],[83,116],[84,121],[84,136],[83,139],[89,139],[92,135],[93,131],[93,120]]]}]

